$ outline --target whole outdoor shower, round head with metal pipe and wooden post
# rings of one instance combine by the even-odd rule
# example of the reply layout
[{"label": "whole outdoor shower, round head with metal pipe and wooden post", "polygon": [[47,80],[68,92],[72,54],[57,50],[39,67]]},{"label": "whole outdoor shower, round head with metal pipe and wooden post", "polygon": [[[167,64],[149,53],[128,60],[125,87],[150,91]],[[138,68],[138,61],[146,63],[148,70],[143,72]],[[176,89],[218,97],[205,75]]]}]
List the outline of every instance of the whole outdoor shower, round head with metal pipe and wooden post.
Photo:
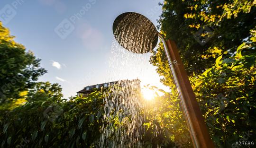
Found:
[{"label": "whole outdoor shower, round head with metal pipe and wooden post", "polygon": [[165,41],[164,36],[156,30],[148,18],[135,12],[119,15],[113,23],[113,33],[122,47],[137,54],[152,51],[157,45],[158,37],[160,38],[164,44],[165,55],[177,88],[193,146],[194,148],[214,148],[174,41]]}]

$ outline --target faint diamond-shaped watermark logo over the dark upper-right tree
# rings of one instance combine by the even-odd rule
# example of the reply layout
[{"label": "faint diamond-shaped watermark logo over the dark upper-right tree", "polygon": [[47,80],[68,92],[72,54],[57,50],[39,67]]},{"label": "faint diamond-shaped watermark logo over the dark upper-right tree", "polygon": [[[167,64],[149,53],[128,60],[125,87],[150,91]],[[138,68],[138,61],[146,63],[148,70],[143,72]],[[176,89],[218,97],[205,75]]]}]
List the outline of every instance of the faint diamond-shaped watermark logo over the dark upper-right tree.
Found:
[{"label": "faint diamond-shaped watermark logo over the dark upper-right tree", "polygon": [[193,34],[193,36],[195,40],[203,46],[213,36],[213,29],[208,26],[202,26],[196,33]]}]

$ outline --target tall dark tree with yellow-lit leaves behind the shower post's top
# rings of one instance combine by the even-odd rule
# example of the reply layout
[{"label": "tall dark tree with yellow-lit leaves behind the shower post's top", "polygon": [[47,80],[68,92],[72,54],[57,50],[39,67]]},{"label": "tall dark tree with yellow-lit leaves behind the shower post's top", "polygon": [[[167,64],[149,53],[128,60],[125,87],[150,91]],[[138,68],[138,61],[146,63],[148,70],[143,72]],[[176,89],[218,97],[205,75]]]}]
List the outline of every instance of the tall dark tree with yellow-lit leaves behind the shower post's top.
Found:
[{"label": "tall dark tree with yellow-lit leaves behind the shower post's top", "polygon": [[[162,5],[158,27],[177,44],[189,75],[201,73],[219,55],[229,57],[240,44],[250,42],[249,32],[256,26],[255,0],[165,0]],[[151,62],[170,85],[162,46]]]}]

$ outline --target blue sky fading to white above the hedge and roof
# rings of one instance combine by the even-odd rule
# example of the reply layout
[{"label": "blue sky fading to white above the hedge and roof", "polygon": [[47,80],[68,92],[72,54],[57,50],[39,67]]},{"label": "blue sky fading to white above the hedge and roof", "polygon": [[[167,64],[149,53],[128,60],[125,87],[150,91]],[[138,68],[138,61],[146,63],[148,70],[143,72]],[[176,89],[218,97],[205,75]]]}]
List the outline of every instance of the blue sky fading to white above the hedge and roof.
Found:
[{"label": "blue sky fading to white above the hedge and roof", "polygon": [[[48,73],[39,81],[59,83],[65,97],[75,96],[88,85],[125,78],[139,78],[143,84],[163,87],[155,67],[148,62],[149,54],[137,61],[140,65],[137,68],[145,69],[138,73],[128,70],[131,65],[122,66],[122,70],[110,70],[109,65],[115,62],[111,57],[118,57],[110,52],[114,19],[121,13],[133,11],[158,25],[159,1],[0,0],[0,20],[10,29],[11,35],[16,36],[18,43],[42,60],[41,66]],[[136,64],[129,62],[134,58],[117,61]]]}]

